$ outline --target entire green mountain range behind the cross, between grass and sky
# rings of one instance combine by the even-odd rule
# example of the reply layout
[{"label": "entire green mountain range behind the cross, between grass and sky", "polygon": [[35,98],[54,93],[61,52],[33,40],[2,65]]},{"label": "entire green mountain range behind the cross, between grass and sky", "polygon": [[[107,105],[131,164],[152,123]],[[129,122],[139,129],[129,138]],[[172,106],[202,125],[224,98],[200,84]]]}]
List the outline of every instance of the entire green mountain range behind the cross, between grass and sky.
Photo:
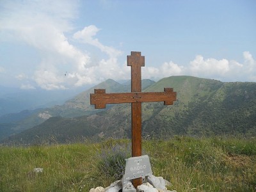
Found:
[{"label": "entire green mountain range behind the cross, between grass and sky", "polygon": [[[175,134],[191,136],[256,134],[256,83],[223,83],[191,76],[172,76],[155,83],[143,80],[143,92],[163,92],[172,87],[177,92],[173,106],[163,102],[143,103],[143,137],[168,138]],[[130,92],[130,84],[108,79],[79,93],[62,105],[22,112],[16,121],[0,117],[3,142],[42,143],[47,140],[129,138],[131,104],[111,104],[94,109],[89,93],[94,88],[106,92]],[[3,117],[3,116],[2,116]],[[23,132],[22,132],[23,131]]]}]

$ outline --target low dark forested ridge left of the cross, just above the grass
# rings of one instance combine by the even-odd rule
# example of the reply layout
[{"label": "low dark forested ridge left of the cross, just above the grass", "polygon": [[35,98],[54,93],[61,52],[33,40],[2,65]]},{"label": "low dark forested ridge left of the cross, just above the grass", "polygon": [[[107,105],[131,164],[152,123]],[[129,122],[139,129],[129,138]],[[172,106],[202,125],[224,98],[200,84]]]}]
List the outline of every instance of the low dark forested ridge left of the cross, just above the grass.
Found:
[{"label": "low dark forested ridge left of the cross, just above the grass", "polygon": [[90,121],[84,117],[63,118],[55,116],[32,129],[13,135],[9,140],[4,141],[12,144],[28,144],[28,141],[33,144],[68,143],[69,141],[83,140],[85,135],[93,137],[99,132],[100,130],[91,125]]}]

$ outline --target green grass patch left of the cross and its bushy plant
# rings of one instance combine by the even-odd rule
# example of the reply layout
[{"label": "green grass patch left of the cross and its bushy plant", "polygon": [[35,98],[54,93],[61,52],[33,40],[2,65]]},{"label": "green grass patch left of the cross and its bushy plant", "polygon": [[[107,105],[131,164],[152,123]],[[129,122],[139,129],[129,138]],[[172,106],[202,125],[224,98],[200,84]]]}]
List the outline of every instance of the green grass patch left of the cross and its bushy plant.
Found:
[{"label": "green grass patch left of the cross and its bushy plant", "polygon": [[[1,147],[0,191],[79,191],[90,188],[97,145]],[[94,161],[94,160],[93,160]],[[42,173],[34,168],[44,168]]]}]

